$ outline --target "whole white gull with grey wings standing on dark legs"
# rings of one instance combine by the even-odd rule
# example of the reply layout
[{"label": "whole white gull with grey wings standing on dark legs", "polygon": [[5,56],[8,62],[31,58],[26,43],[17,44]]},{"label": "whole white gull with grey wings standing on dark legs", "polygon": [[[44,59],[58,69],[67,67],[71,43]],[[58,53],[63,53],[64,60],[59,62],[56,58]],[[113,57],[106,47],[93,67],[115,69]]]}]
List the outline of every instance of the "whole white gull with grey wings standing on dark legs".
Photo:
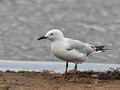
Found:
[{"label": "whole white gull with grey wings standing on dark legs", "polygon": [[96,53],[98,51],[105,52],[104,46],[94,46],[88,43],[81,42],[79,40],[73,40],[70,38],[65,38],[63,33],[58,29],[50,30],[46,35],[37,38],[37,40],[48,39],[51,41],[51,51],[52,53],[66,61],[66,69],[64,78],[67,79],[67,68],[68,62],[75,63],[75,75],[74,79],[77,78],[77,64],[86,61],[87,56]]}]

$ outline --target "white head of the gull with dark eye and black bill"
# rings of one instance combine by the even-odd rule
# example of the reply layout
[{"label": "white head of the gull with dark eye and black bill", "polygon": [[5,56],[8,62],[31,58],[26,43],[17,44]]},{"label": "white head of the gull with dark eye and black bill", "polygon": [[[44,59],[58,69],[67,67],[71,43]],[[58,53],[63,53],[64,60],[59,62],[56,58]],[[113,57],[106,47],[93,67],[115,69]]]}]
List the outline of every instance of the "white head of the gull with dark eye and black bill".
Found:
[{"label": "white head of the gull with dark eye and black bill", "polygon": [[52,29],[48,31],[44,36],[39,37],[37,40],[48,39],[52,42],[62,40],[64,38],[63,33],[59,29]]}]

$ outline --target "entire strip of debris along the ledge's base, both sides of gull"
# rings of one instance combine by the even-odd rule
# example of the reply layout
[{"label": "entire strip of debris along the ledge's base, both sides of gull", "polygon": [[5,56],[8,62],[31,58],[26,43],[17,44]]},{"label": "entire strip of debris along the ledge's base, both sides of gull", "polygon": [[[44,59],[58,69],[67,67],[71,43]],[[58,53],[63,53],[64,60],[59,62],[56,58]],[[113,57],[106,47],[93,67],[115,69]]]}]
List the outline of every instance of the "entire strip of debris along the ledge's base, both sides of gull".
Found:
[{"label": "entire strip of debris along the ledge's base, both sides of gull", "polygon": [[[2,71],[1,71],[2,72]],[[63,76],[63,74],[61,73],[56,73],[54,71],[48,71],[48,70],[43,70],[41,72],[35,72],[35,71],[10,71],[7,70],[7,73],[21,73],[21,74],[25,74],[25,75],[43,75],[43,76],[55,76],[58,78],[61,78]],[[77,71],[77,75],[78,75],[78,79],[80,78],[93,78],[93,79],[98,79],[98,80],[120,80],[120,68],[114,69],[114,68],[110,68],[106,71],[93,71],[93,70],[89,70],[89,71]],[[74,75],[74,71],[70,70],[68,71],[68,78],[72,78],[72,76]]]}]

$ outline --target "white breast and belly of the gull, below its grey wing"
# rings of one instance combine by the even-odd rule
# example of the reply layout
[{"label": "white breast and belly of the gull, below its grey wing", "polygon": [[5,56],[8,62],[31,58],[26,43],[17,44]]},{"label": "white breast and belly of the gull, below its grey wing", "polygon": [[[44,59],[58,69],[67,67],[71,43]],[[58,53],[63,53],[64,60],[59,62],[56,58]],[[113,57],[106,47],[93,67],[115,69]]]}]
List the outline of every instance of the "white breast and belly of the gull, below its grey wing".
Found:
[{"label": "white breast and belly of the gull, below its grey wing", "polygon": [[76,50],[67,50],[63,43],[56,42],[51,44],[51,51],[54,55],[64,61],[84,62],[85,55]]}]

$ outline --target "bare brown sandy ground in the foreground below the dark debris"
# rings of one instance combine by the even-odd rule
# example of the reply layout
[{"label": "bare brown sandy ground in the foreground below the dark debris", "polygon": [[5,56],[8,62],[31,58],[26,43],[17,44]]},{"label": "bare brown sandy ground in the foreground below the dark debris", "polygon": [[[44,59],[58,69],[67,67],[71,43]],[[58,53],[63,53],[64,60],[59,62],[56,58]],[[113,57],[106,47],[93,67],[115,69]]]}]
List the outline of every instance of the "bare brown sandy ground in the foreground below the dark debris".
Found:
[{"label": "bare brown sandy ground in the foreground below the dark debris", "polygon": [[64,80],[55,72],[0,72],[0,90],[120,90],[120,80],[81,77]]}]

